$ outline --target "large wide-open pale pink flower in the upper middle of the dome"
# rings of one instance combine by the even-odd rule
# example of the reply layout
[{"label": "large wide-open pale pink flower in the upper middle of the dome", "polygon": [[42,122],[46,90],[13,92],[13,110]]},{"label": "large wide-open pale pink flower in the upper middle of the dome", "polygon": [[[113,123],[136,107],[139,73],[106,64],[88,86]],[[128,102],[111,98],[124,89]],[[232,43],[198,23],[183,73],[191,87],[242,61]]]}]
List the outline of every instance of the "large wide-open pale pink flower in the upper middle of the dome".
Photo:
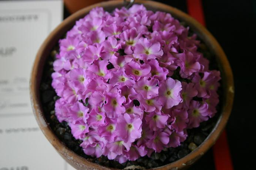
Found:
[{"label": "large wide-open pale pink flower in the upper middle of the dome", "polygon": [[134,56],[142,60],[160,58],[163,54],[160,43],[152,43],[147,38],[139,39],[139,42],[134,46]]}]

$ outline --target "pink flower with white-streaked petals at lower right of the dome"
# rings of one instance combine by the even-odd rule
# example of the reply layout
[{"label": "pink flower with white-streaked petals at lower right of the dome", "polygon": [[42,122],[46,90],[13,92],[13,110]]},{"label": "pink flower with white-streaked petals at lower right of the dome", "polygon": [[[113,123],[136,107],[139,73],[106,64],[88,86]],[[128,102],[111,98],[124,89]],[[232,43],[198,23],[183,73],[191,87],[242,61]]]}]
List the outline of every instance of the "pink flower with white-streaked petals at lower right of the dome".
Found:
[{"label": "pink flower with white-streaked petals at lower right of the dome", "polygon": [[208,111],[207,103],[199,103],[198,101],[192,100],[188,110],[188,128],[196,128],[202,121],[209,119],[210,112]]}]

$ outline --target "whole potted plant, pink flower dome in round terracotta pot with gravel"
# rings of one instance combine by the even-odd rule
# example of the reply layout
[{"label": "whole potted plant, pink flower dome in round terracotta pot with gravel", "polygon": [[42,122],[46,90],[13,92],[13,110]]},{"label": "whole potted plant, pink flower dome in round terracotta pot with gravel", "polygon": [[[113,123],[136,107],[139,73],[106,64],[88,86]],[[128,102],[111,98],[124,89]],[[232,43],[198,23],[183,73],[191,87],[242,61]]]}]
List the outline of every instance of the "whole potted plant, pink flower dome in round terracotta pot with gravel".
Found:
[{"label": "whole potted plant, pink flower dome in round terracotta pot with gravel", "polygon": [[[127,10],[122,1],[108,1],[78,11],[37,53],[30,86],[34,114],[77,169],[185,169],[228,120],[233,77],[218,42],[175,8],[136,2],[143,5]],[[220,72],[209,69],[207,55],[210,69]]]}]

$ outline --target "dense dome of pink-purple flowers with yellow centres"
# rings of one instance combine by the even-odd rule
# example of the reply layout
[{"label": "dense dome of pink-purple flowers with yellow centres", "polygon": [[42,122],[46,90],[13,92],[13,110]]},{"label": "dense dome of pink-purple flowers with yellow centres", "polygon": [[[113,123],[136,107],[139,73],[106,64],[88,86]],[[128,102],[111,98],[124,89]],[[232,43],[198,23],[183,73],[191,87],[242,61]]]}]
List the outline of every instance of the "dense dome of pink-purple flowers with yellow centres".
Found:
[{"label": "dense dome of pink-purple flowers with yellow centres", "polygon": [[219,102],[220,73],[209,70],[199,43],[168,13],[94,8],[60,40],[58,120],[85,154],[120,163],[179,146]]}]

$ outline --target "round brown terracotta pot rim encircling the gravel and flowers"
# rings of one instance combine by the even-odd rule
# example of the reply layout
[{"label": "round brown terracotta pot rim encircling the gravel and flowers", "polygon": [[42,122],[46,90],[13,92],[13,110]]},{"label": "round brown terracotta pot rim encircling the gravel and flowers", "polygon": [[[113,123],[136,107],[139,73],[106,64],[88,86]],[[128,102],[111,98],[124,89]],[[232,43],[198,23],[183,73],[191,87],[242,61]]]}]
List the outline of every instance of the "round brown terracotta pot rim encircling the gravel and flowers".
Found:
[{"label": "round brown terracotta pot rim encircling the gravel and flowers", "polygon": [[[223,52],[222,48],[216,41],[216,39],[210,34],[209,31],[206,30],[201,24],[199,24],[196,20],[191,18],[189,15],[183,13],[182,11],[167,6],[162,3],[148,1],[148,0],[137,0],[136,3],[144,4],[144,6],[148,10],[153,11],[164,11],[167,13],[171,13],[172,16],[179,19],[180,21],[184,21],[189,27],[206,43],[209,47],[210,51],[216,56],[216,60],[220,66],[220,72],[222,77],[222,87],[223,87],[223,98],[222,98],[222,110],[220,117],[213,128],[212,132],[209,136],[205,139],[205,141],[196,148],[193,152],[189,153],[187,156],[179,159],[173,163],[167,164],[162,167],[157,167],[156,169],[161,170],[177,170],[177,169],[186,169],[191,164],[193,164],[199,157],[201,157],[218,139],[220,133],[225,128],[225,125],[228,121],[232,104],[233,104],[233,97],[234,97],[234,86],[233,86],[233,75],[229,65],[229,62],[226,58],[225,53]],[[108,167],[100,166],[98,164],[89,162],[88,160],[84,159],[83,157],[75,154],[70,149],[68,149],[64,143],[57,138],[54,132],[51,130],[48,122],[46,121],[44,112],[42,110],[42,104],[40,100],[40,82],[42,71],[44,68],[45,61],[49,56],[51,49],[55,46],[58,40],[73,27],[75,21],[84,17],[92,8],[94,7],[103,7],[107,11],[112,11],[116,7],[122,7],[123,1],[106,1],[98,4],[94,4],[92,6],[83,8],[80,11],[77,11],[66,20],[64,20],[58,27],[51,32],[51,34],[47,37],[47,39],[41,45],[39,49],[35,62],[34,67],[31,74],[30,80],[30,93],[31,93],[31,102],[34,111],[34,115],[40,126],[41,130],[43,131],[46,138],[49,142],[54,146],[54,148],[58,151],[58,153],[73,167],[78,170],[85,170],[85,169],[95,169],[95,170],[105,170],[111,169]]]}]

